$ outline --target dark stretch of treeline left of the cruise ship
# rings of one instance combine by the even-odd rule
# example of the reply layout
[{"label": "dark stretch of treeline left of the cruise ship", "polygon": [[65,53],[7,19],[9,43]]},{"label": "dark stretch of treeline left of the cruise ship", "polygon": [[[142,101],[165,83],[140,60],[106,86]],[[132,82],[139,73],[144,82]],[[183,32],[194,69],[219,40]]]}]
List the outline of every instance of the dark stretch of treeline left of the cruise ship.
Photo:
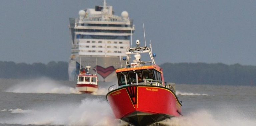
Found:
[{"label": "dark stretch of treeline left of the cruise ship", "polygon": [[14,63],[0,61],[0,78],[32,79],[49,77],[56,80],[68,80],[67,62]]}]

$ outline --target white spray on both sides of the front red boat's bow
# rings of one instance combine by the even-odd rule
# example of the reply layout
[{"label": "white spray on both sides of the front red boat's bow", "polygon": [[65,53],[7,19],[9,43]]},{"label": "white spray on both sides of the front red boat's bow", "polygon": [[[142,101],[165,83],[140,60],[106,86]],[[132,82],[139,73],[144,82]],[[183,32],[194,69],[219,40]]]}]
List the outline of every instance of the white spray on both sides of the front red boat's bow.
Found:
[{"label": "white spray on both sides of the front red boat's bow", "polygon": [[[7,124],[23,125],[66,125],[66,126],[127,126],[126,122],[115,119],[108,103],[82,100],[80,105],[66,104],[44,106],[38,110],[0,109],[22,113],[19,117],[1,121]],[[255,126],[255,117],[237,109],[222,108],[216,111],[197,110],[182,117],[173,117],[159,122],[163,126]]]}]

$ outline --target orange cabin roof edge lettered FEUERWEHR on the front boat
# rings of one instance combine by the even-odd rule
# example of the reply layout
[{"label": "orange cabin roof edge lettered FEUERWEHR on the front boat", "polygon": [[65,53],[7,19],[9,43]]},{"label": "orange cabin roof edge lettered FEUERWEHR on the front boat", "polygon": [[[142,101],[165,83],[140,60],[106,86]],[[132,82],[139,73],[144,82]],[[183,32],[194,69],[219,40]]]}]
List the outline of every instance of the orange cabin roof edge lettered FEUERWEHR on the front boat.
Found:
[{"label": "orange cabin roof edge lettered FEUERWEHR on the front boat", "polygon": [[132,70],[142,70],[142,69],[155,69],[161,73],[163,73],[162,68],[158,65],[146,65],[146,66],[139,66],[139,67],[129,67],[129,68],[121,68],[117,69],[116,73],[124,72],[124,71],[132,71]]}]

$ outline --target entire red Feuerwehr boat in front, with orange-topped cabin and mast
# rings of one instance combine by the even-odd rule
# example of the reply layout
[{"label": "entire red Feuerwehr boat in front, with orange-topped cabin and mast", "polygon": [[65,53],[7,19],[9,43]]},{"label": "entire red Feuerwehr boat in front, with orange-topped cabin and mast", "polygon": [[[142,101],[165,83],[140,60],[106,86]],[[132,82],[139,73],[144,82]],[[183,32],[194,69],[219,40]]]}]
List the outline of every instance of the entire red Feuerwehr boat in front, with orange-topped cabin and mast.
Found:
[{"label": "entire red Feuerwehr boat in front, with orange-topped cabin and mast", "polygon": [[[155,64],[151,48],[140,47],[139,40],[136,44],[123,58],[127,59],[125,68],[116,70],[118,87],[110,86],[106,95],[115,117],[131,125],[147,126],[182,115],[175,83],[164,81],[163,70]],[[141,53],[148,53],[151,61],[141,61]],[[130,55],[135,57],[133,63],[129,63]]]}]

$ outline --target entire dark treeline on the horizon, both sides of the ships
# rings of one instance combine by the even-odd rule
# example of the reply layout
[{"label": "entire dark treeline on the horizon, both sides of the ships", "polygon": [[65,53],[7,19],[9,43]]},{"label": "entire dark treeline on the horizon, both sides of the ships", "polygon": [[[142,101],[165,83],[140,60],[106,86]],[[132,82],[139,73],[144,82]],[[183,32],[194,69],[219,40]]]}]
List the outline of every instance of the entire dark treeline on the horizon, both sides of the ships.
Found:
[{"label": "entire dark treeline on the horizon, both sides of the ships", "polygon": [[[256,66],[223,63],[164,63],[165,81],[185,84],[256,85]],[[67,62],[14,63],[0,61],[0,78],[49,77],[68,80]]]}]

